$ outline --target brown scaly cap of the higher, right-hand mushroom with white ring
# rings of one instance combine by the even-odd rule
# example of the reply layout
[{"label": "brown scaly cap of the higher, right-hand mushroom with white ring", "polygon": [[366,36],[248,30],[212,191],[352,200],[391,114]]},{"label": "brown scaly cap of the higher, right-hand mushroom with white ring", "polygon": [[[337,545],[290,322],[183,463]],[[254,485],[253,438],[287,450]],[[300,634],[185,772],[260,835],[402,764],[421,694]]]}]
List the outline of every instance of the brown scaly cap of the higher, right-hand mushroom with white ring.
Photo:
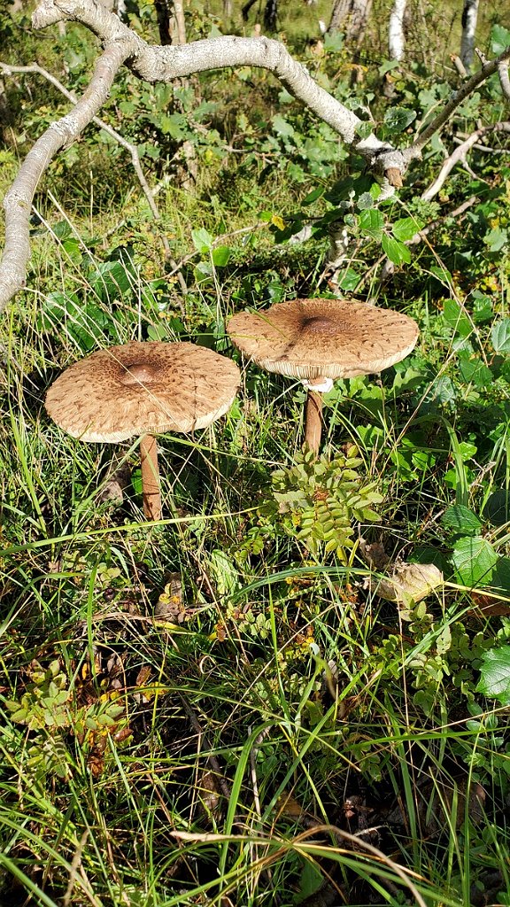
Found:
[{"label": "brown scaly cap of the higher, right-hand mushroom with white ring", "polygon": [[345,299],[293,299],[239,312],[227,330],[268,372],[307,380],[380,372],[408,356],[418,337],[407,315]]}]

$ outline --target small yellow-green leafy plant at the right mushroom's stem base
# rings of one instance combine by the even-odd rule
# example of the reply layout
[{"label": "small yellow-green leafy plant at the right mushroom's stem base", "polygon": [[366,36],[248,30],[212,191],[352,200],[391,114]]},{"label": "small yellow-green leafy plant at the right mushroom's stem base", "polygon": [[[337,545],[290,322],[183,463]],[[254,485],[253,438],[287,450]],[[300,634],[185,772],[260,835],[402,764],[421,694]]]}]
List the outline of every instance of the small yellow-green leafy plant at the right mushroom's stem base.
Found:
[{"label": "small yellow-green leafy plant at the right mushroom's stem base", "polygon": [[373,504],[383,495],[375,482],[365,482],[357,472],[363,461],[358,448],[348,445],[332,460],[326,455],[298,453],[292,466],[272,475],[272,493],[282,525],[289,535],[303,541],[312,554],[321,548],[347,561],[354,545],[353,522],[378,522]]}]

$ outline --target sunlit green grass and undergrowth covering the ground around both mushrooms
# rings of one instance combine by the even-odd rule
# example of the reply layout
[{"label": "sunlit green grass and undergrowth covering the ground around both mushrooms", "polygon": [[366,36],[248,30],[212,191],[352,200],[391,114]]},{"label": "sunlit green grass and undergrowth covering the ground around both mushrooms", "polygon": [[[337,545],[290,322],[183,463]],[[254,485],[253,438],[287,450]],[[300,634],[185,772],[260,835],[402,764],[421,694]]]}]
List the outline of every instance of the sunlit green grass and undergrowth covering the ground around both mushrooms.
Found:
[{"label": "sunlit green grass and undergrowth covering the ground around both mushrooms", "polygon": [[[191,15],[198,37],[210,20]],[[302,15],[288,40],[309,62]],[[154,28],[149,16],[142,24]],[[73,29],[68,38],[64,54],[76,54]],[[444,34],[435,41],[442,59]],[[59,47],[48,39],[40,62],[57,69]],[[82,63],[92,56],[87,43]],[[314,66],[341,94],[351,91],[347,62]],[[75,61],[75,90],[83,79]],[[97,346],[191,338],[237,356],[224,335],[232,311],[328,295],[326,236],[275,246],[260,212],[288,218],[352,161],[331,161],[332,140],[297,105],[285,116],[316,136],[317,154],[306,146],[307,161],[302,145],[286,146],[267,128],[280,89],[250,79],[197,86],[220,97],[218,122],[240,107],[212,158],[197,140],[195,192],[162,188],[160,223],[92,132],[55,162],[37,199],[27,289],[0,325],[0,897],[47,907],[506,903],[507,715],[476,688],[484,652],[510,633],[508,384],[491,334],[507,316],[508,264],[485,241],[496,217],[505,229],[505,165],[476,159],[489,182],[476,218],[445,221],[392,281],[375,269],[364,288],[417,318],[416,353],[378,379],[338,382],[325,401],[324,450],[357,443],[364,480],[384,494],[380,522],[357,525],[355,540],[391,561],[434,561],[446,583],[427,599],[384,600],[384,562],[370,566],[358,541],[345,562],[314,553],[275,508],[271,473],[297,461],[302,434],[303,392],[289,380],[240,363],[240,397],[221,424],[160,439],[158,525],[142,518],[135,443],[81,444],[44,412],[54,376]],[[399,102],[414,102],[426,81],[409,68]],[[120,80],[106,113],[162,149],[143,159],[154,184],[173,146],[136,114],[119,124],[122,102],[145,104],[134,84]],[[364,98],[370,87],[355,91]],[[34,83],[37,129],[52,115],[48,92]],[[17,86],[16,102],[22,94]],[[489,115],[490,93],[480,103]],[[22,122],[16,108],[20,149]],[[225,141],[246,156],[215,157]],[[10,180],[17,151],[2,153]],[[414,173],[404,211],[388,219],[419,213],[438,161]],[[471,190],[454,173],[442,204]],[[319,218],[329,202],[307,210]],[[427,209],[427,222],[440,210]],[[199,228],[229,246],[226,266],[197,251]],[[163,231],[186,259],[185,299],[165,278]],[[354,265],[373,268],[379,251],[358,243]],[[474,299],[486,296],[480,316]],[[478,360],[492,369],[485,385]],[[100,502],[121,464],[131,471],[123,501]],[[456,566],[453,504],[480,518],[496,551],[492,585]]]}]

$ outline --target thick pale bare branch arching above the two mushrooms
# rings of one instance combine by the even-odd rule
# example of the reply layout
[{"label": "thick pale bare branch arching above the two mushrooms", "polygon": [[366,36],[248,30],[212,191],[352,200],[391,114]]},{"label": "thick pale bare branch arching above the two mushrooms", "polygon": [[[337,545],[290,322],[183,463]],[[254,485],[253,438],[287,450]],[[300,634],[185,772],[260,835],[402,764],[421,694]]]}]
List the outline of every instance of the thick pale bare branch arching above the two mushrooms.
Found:
[{"label": "thick pale bare branch arching above the two mushrooms", "polygon": [[[315,83],[306,67],[294,60],[284,45],[277,41],[221,36],[192,44],[151,46],[96,0],[40,0],[32,21],[35,28],[65,21],[81,22],[99,37],[104,50],[96,63],[91,83],[76,102],[74,110],[54,122],[35,142],[5,196],[5,250],[0,262],[0,312],[16,290],[25,284],[30,254],[30,210],[38,181],[54,154],[75,141],[88,123],[93,121],[106,101],[115,74],[123,63],[148,82],[165,83],[186,78],[193,73],[220,68],[254,66],[267,69],[280,79],[289,93],[338,132],[342,141],[366,158],[370,171],[383,180],[383,191],[387,193],[402,184],[402,175],[407,170],[408,162],[421,156],[421,149],[447,122],[458,105],[510,57],[508,47],[495,61],[483,60],[480,71],[452,95],[443,112],[428,124],[417,141],[401,151],[380,141],[373,133],[368,138],[359,140],[357,130],[361,121],[358,116]],[[111,131],[111,134],[114,132]],[[129,143],[125,143],[124,147],[128,145]],[[130,151],[131,149],[132,146]],[[132,160],[135,164],[133,155]],[[141,169],[137,172],[140,179]],[[149,194],[145,189],[144,191],[149,199],[152,193],[148,186],[146,189]],[[152,199],[152,213],[153,205]]]}]

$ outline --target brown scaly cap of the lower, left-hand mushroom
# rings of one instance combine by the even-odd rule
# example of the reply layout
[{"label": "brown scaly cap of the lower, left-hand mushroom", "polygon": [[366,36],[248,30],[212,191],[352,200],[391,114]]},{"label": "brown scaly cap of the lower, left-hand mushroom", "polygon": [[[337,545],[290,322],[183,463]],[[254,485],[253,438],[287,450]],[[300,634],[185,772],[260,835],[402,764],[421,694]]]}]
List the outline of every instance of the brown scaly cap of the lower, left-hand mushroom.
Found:
[{"label": "brown scaly cap of the lower, left-hand mushroom", "polygon": [[191,343],[132,343],[98,350],[50,387],[46,409],[83,441],[191,432],[227,412],[240,371],[226,356]]}]

